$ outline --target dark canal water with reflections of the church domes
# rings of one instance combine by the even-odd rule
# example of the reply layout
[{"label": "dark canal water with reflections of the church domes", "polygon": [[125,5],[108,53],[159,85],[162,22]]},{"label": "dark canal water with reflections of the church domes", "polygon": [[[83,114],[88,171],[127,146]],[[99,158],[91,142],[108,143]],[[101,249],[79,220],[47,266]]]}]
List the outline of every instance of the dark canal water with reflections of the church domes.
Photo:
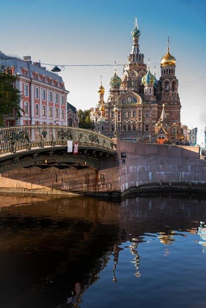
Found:
[{"label": "dark canal water with reflections of the church domes", "polygon": [[206,199],[0,195],[0,307],[205,308]]}]

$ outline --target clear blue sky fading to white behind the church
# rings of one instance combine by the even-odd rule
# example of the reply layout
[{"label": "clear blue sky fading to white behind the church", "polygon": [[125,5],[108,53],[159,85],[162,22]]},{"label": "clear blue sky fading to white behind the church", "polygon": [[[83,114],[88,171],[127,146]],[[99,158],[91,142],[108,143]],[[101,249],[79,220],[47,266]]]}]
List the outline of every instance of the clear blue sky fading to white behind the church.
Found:
[{"label": "clear blue sky fading to white behind the church", "polygon": [[[49,64],[117,64],[127,62],[137,15],[140,52],[145,63],[160,63],[170,36],[182,105],[181,122],[206,126],[205,0],[0,0],[0,50]],[[151,64],[153,71],[154,64]],[[51,69],[52,66],[48,65]],[[122,76],[123,66],[117,67]],[[157,77],[160,64],[156,64]],[[68,101],[89,109],[99,99],[102,75],[108,96],[112,66],[65,67],[59,73]]]}]

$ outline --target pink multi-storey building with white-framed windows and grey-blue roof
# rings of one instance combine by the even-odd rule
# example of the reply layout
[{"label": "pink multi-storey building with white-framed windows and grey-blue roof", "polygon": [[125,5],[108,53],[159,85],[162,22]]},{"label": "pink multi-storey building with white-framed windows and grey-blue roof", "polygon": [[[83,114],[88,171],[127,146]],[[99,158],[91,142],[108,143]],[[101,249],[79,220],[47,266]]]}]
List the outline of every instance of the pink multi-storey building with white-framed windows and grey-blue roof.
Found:
[{"label": "pink multi-storey building with white-framed windows and grey-blue roof", "polygon": [[30,56],[23,59],[0,52],[0,66],[12,75],[18,75],[15,87],[22,92],[20,102],[25,111],[16,119],[15,114],[5,117],[5,125],[56,124],[67,125],[67,95],[62,77],[40,62],[32,62]]}]

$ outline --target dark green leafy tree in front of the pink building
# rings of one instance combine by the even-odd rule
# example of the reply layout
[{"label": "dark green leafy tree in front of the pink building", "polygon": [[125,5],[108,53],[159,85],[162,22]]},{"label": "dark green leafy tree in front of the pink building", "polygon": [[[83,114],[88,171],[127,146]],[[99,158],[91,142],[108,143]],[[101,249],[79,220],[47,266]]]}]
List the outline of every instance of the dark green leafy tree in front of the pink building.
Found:
[{"label": "dark green leafy tree in front of the pink building", "polygon": [[13,115],[13,110],[15,110],[16,117],[20,118],[21,112],[24,112],[19,104],[22,94],[13,87],[17,78],[17,76],[10,75],[3,67],[0,68],[0,126],[4,124],[4,115]]}]

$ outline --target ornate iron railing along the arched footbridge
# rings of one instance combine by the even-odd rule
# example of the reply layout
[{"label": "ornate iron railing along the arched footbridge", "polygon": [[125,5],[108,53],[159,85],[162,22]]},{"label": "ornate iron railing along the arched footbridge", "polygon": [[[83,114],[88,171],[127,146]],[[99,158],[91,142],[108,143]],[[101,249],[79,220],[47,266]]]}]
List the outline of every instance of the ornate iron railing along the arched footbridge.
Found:
[{"label": "ornate iron railing along the arched footbridge", "polygon": [[45,146],[67,146],[68,140],[78,142],[79,147],[114,152],[114,144],[110,138],[88,129],[57,125],[26,125],[0,127],[0,154]]}]

